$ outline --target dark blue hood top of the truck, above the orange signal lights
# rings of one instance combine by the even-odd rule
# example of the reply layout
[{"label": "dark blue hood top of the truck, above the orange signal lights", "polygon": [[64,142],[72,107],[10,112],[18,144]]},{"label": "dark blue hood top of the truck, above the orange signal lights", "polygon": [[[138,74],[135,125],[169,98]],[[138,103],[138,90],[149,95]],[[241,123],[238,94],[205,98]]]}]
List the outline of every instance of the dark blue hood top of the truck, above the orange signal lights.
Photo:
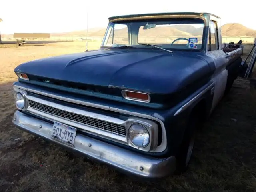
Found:
[{"label": "dark blue hood top of the truck, above the orange signal lights", "polygon": [[54,80],[168,94],[210,72],[197,52],[96,50],[42,58],[15,72]]}]

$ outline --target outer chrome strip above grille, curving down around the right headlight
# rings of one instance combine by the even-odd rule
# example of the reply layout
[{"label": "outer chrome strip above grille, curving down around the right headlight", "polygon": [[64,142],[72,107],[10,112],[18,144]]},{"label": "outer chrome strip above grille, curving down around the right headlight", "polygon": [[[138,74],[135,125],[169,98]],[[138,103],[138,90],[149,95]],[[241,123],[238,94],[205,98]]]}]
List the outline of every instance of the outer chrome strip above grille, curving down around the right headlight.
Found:
[{"label": "outer chrome strip above grille, curving down around the right headlight", "polygon": [[109,110],[109,111],[114,111],[114,112],[118,112],[118,113],[132,115],[132,116],[138,116],[138,117],[141,117],[141,118],[155,120],[155,121],[160,123],[161,128],[162,128],[162,143],[159,146],[157,146],[157,148],[155,150],[150,151],[150,152],[162,152],[167,147],[167,136],[166,136],[166,130],[165,130],[164,123],[156,117],[146,115],[146,114],[137,113],[137,112],[133,112],[133,111],[114,108],[114,107],[110,107],[110,106],[94,104],[94,103],[90,103],[90,102],[86,102],[86,101],[82,101],[82,100],[67,98],[67,97],[64,97],[64,96],[61,96],[61,95],[42,92],[42,91],[34,90],[34,89],[31,89],[31,88],[27,88],[27,87],[24,87],[24,86],[14,85],[13,88],[14,88],[14,90],[19,90],[19,89],[20,90],[26,90],[26,91],[29,91],[29,92],[32,92],[32,93],[40,94],[40,95],[43,95],[43,96],[48,96],[50,98],[55,98],[55,99],[63,100],[63,101],[66,101],[66,102],[71,102],[71,103],[80,104],[80,105],[84,105],[84,106],[90,106],[90,107],[94,107],[94,108],[99,108],[99,109],[104,109],[104,110]]}]

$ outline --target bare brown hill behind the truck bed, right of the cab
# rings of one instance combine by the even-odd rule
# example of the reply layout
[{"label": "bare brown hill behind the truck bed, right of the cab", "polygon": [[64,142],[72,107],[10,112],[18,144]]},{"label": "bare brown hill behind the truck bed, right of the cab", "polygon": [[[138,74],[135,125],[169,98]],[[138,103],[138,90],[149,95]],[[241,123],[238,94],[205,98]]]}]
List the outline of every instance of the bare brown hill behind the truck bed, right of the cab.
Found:
[{"label": "bare brown hill behind the truck bed, right of the cab", "polygon": [[247,28],[239,23],[229,23],[222,26],[222,36],[248,36],[256,37],[256,30]]}]

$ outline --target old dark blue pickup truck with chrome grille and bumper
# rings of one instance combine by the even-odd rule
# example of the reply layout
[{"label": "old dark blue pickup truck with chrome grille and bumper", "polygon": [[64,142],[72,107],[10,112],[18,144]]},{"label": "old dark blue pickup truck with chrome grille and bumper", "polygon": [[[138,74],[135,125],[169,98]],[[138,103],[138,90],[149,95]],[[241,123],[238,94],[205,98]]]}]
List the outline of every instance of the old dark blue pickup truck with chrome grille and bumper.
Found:
[{"label": "old dark blue pickup truck with chrome grille and bumper", "polygon": [[214,14],[108,20],[98,50],[14,69],[12,122],[126,174],[181,174],[196,132],[238,77],[242,50],[222,50]]}]

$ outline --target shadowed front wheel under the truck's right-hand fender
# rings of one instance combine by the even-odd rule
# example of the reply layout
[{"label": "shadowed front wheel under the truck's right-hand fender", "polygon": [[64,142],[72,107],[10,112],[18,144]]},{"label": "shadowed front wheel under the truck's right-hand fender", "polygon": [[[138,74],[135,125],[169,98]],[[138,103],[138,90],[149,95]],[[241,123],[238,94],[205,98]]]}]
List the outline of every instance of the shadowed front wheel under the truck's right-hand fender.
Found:
[{"label": "shadowed front wheel under the truck's right-hand fender", "polygon": [[198,115],[193,115],[188,122],[188,126],[184,133],[180,150],[176,157],[177,167],[174,174],[182,174],[188,169],[199,122],[200,120],[198,118]]}]

